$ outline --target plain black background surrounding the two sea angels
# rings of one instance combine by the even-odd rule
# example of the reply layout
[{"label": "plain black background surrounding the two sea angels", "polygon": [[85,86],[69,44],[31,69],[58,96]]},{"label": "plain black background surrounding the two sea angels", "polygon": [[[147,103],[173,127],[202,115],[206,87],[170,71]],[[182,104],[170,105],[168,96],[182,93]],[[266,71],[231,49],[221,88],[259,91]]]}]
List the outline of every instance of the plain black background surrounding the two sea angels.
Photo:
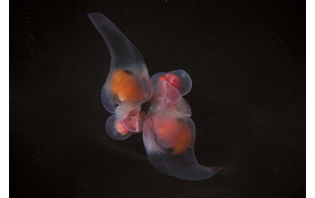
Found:
[{"label": "plain black background surrounding the two sea angels", "polygon": [[[224,170],[157,172],[140,135],[114,141],[100,102],[107,15],[150,75],[183,68],[195,153]],[[11,197],[305,196],[304,1],[11,1]]]}]

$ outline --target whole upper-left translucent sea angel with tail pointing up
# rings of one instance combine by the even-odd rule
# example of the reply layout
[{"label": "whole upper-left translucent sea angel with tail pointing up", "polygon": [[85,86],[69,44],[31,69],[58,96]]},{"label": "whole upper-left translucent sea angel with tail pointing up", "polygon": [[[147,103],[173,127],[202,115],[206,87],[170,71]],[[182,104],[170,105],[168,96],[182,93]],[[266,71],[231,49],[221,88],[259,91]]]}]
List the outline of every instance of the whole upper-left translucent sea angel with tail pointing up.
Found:
[{"label": "whole upper-left translucent sea angel with tail pointing up", "polygon": [[[103,107],[108,112],[116,112],[115,121],[119,121],[121,126],[139,132],[143,121],[133,112],[138,111],[153,93],[145,61],[139,50],[106,16],[92,13],[88,17],[102,35],[111,56],[110,72],[102,88]],[[113,121],[113,118],[108,121]],[[115,127],[120,125],[106,125],[106,130],[110,130],[108,134],[114,139],[124,139],[126,136],[112,135],[117,130]]]}]

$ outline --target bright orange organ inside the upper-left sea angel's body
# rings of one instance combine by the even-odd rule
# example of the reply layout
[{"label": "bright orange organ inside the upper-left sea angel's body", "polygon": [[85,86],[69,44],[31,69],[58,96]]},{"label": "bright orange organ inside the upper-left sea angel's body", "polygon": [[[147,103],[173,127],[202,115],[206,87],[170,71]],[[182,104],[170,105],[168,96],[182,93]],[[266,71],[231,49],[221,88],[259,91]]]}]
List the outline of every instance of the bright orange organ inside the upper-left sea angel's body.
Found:
[{"label": "bright orange organ inside the upper-left sea angel's body", "polygon": [[137,79],[122,69],[112,72],[111,91],[112,94],[117,94],[121,101],[136,102],[142,96]]}]

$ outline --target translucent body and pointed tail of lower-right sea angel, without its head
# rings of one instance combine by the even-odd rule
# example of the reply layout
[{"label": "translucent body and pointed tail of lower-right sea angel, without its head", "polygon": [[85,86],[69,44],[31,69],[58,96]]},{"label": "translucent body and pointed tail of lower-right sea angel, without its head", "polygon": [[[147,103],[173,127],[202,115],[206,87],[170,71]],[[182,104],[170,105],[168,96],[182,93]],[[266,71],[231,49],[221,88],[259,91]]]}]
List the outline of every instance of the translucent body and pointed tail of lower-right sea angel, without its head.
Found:
[{"label": "translucent body and pointed tail of lower-right sea angel, without its head", "polygon": [[147,157],[158,171],[184,180],[204,180],[220,171],[206,167],[194,156],[194,124],[190,118],[148,118],[143,126]]}]

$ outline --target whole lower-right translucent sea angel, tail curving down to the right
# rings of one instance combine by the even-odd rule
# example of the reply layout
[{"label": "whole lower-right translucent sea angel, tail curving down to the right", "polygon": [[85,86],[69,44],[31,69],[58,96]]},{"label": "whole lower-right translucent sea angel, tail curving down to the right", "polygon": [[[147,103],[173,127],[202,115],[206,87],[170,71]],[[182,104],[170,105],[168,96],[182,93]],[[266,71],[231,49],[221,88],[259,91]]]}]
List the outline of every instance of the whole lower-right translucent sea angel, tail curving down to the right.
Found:
[{"label": "whole lower-right translucent sea angel, tail curving down to the right", "polygon": [[184,70],[152,76],[154,95],[143,126],[143,142],[150,163],[162,173],[185,180],[203,180],[220,167],[198,163],[194,151],[195,127],[183,95],[192,87]]}]

